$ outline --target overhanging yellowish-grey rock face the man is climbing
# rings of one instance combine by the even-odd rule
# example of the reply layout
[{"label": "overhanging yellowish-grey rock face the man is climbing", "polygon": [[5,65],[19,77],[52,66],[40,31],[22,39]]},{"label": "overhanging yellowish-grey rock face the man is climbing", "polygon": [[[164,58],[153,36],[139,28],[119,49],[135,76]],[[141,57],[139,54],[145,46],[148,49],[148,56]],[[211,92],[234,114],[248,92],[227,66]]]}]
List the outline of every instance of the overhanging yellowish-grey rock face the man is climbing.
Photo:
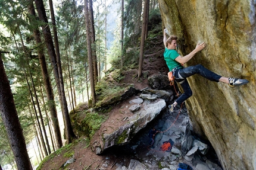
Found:
[{"label": "overhanging yellowish-grey rock face the man is climbing", "polygon": [[188,79],[193,96],[186,107],[193,130],[210,140],[224,169],[256,169],[256,2],[158,2],[164,27],[179,38],[180,54],[207,43],[186,66],[201,64],[221,76],[250,81],[230,88],[194,75]]}]

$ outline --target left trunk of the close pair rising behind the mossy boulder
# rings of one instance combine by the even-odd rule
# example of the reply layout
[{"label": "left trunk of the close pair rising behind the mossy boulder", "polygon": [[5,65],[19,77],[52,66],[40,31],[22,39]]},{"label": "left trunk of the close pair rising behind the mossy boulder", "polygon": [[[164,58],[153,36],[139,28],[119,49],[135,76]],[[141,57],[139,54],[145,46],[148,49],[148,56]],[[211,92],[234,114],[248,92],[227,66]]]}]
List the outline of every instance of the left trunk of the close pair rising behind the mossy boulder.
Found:
[{"label": "left trunk of the close pair rising behind the mossy boulder", "polygon": [[86,37],[87,37],[87,52],[88,52],[88,63],[89,63],[89,77],[90,77],[90,92],[92,97],[92,105],[95,105],[95,82],[93,75],[93,58],[92,58],[92,47],[90,44],[92,41],[90,40],[90,21],[89,21],[89,8],[88,1],[85,0],[85,24],[86,24]]}]

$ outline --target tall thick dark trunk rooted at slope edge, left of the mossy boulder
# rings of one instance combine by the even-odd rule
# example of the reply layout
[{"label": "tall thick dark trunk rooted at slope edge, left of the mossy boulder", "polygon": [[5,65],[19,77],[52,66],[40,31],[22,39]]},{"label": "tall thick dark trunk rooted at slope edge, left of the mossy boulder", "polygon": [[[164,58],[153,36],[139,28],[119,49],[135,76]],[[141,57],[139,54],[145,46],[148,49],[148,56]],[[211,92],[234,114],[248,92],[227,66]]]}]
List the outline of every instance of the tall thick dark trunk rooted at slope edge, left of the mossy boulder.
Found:
[{"label": "tall thick dark trunk rooted at slope edge, left of the mossy boulder", "polygon": [[[54,76],[55,81],[57,83],[57,88],[60,96],[60,101],[63,108],[63,118],[65,123],[65,133],[67,138],[67,143],[71,143],[71,140],[76,137],[76,135],[73,132],[70,116],[68,114],[68,108],[67,108],[67,100],[65,98],[65,91],[64,91],[64,84],[63,84],[63,75],[62,75],[62,69],[61,69],[61,61],[60,56],[56,56],[55,49],[54,49],[54,43],[52,41],[51,31],[48,25],[48,20],[46,17],[45,8],[43,6],[42,0],[35,0],[36,8],[38,9],[38,16],[39,20],[43,21],[45,25],[42,25],[43,35],[45,37],[46,47],[48,49],[48,53],[51,59],[52,66],[54,67]],[[58,86],[59,85],[59,86]]]}]

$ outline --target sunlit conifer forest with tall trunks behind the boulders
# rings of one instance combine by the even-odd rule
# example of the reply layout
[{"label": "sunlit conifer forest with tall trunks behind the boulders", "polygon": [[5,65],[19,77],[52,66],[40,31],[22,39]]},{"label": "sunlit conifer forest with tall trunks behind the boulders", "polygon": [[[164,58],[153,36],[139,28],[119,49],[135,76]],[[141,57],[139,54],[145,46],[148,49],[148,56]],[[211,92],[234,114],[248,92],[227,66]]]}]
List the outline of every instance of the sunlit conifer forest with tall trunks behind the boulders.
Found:
[{"label": "sunlit conifer forest with tall trunks behind the boulders", "polygon": [[70,111],[99,105],[108,69],[140,78],[160,21],[156,0],[0,0],[0,169],[35,169],[76,140]]}]

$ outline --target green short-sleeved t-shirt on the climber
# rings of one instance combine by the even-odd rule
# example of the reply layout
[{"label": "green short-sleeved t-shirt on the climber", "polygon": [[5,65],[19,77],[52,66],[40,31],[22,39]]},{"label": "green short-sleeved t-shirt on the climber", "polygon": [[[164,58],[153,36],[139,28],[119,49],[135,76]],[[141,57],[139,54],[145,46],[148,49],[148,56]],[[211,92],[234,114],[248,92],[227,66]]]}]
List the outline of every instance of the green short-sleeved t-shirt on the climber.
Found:
[{"label": "green short-sleeved t-shirt on the climber", "polygon": [[175,60],[179,55],[180,54],[176,50],[169,50],[166,48],[164,51],[164,60],[166,60],[166,64],[170,71],[174,68],[182,68],[182,65]]}]

